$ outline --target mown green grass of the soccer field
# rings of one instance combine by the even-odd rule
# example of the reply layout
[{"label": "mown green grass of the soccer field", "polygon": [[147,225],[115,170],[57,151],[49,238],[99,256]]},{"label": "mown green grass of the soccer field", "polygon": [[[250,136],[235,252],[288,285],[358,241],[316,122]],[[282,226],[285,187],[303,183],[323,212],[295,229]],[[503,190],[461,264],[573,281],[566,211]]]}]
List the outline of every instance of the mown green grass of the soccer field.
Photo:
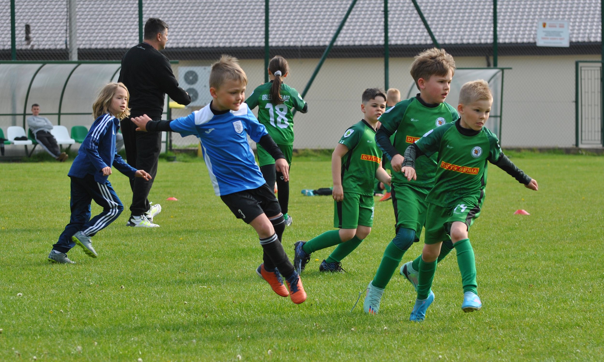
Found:
[{"label": "mown green grass of the soccer field", "polygon": [[[125,226],[132,194],[114,171],[126,211],[94,238],[99,258],[69,253],[76,265],[47,261],[69,220],[71,164],[0,164],[0,360],[602,360],[604,157],[512,160],[539,191],[490,166],[470,231],[483,310],[461,311],[452,253],[423,323],[408,321],[415,294],[398,274],[377,316],[363,313],[362,299],[350,311],[394,236],[391,202],[376,203],[373,232],[342,262],[347,273],[319,273],[315,259],[330,250],[312,255],[302,275],[309,297],[294,305],[256,276],[258,238],[213,195],[202,162],[161,161],[150,194],[162,205],[156,229]],[[329,160],[294,162],[294,224],[283,237],[291,258],[295,241],[333,226],[330,197],[300,194],[330,185]]]}]

